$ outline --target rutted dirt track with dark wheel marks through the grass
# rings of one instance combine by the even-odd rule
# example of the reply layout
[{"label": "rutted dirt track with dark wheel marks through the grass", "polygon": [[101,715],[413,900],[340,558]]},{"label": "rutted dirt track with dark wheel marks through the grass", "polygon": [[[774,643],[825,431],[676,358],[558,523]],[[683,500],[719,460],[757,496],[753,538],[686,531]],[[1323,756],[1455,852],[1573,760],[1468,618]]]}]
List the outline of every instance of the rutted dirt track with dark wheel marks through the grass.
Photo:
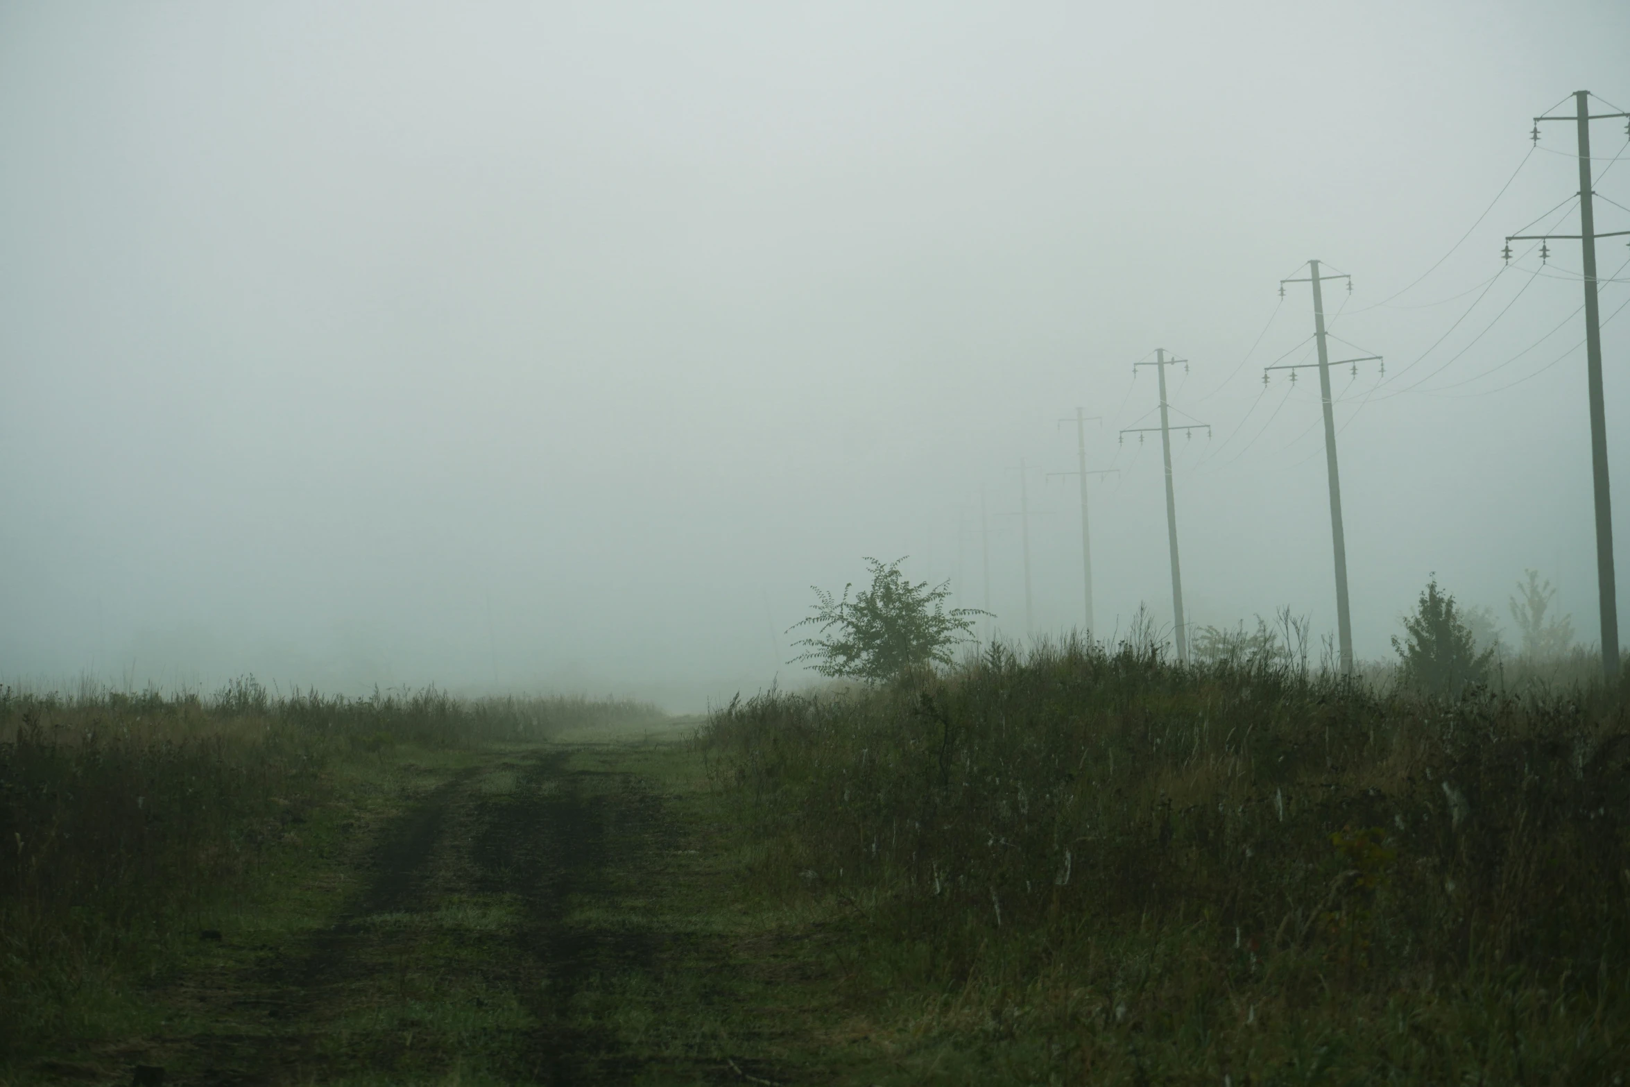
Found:
[{"label": "rutted dirt track with dark wheel marks through the grass", "polygon": [[96,1079],[823,1082],[791,1076],[795,1020],[763,1014],[786,963],[743,940],[706,828],[642,772],[665,758],[556,746],[445,774],[355,844],[336,911],[223,932],[153,994],[166,1030]]}]

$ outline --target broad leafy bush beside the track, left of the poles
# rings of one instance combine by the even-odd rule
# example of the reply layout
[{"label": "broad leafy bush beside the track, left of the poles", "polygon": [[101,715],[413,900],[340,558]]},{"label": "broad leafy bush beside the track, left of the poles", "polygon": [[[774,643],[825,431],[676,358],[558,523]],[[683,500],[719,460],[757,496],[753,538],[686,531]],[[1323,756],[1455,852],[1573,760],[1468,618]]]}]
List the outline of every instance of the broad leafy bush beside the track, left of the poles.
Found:
[{"label": "broad leafy bush beside the track, left of the poles", "polygon": [[988,613],[978,608],[947,611],[950,582],[934,588],[927,582],[913,585],[900,570],[901,562],[905,557],[893,562],[867,559],[872,585],[854,600],[849,600],[852,583],[843,587],[843,596],[812,585],[813,614],[791,629],[810,626],[817,632],[794,642],[807,652],[789,663],[813,662],[810,667],[823,676],[874,683],[923,665],[952,663],[952,647],[975,640],[973,616]]}]

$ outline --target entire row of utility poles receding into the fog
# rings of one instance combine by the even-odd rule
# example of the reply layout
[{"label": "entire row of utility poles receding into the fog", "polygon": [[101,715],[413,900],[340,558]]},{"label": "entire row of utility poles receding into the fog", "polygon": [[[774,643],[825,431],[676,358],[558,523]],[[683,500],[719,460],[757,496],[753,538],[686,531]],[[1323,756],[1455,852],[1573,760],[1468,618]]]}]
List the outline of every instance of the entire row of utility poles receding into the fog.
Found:
[{"label": "entire row of utility poles receding into the fog", "polygon": [[[1596,499],[1596,575],[1599,590],[1599,610],[1601,610],[1601,631],[1602,631],[1602,671],[1607,680],[1614,680],[1619,675],[1619,605],[1617,590],[1614,577],[1614,526],[1612,526],[1612,500],[1607,484],[1607,411],[1602,394],[1602,334],[1601,334],[1601,313],[1597,300],[1597,275],[1596,275],[1596,240],[1612,238],[1620,235],[1630,235],[1630,231],[1609,231],[1596,233],[1596,217],[1593,212],[1593,191],[1591,191],[1591,121],[1604,119],[1622,119],[1627,121],[1627,132],[1630,132],[1630,114],[1625,112],[1606,112],[1593,114],[1589,109],[1589,91],[1575,91],[1576,111],[1573,116],[1542,116],[1534,117],[1534,134],[1532,139],[1539,142],[1539,124],[1542,121],[1571,121],[1578,125],[1578,143],[1579,143],[1579,233],[1578,235],[1511,235],[1506,238],[1506,254],[1509,257],[1509,243],[1513,241],[1540,241],[1548,244],[1558,240],[1578,240],[1583,248],[1583,272],[1584,272],[1584,339],[1586,339],[1586,385],[1589,393],[1589,416],[1591,416],[1591,473],[1594,484]],[[1341,655],[1341,673],[1353,673],[1353,619],[1346,588],[1346,535],[1341,526],[1341,473],[1335,448],[1335,403],[1330,394],[1330,367],[1337,365],[1358,365],[1361,362],[1377,362],[1386,365],[1381,355],[1363,355],[1358,359],[1340,359],[1330,362],[1330,350],[1325,334],[1325,310],[1324,310],[1324,284],[1335,279],[1345,279],[1346,288],[1353,288],[1351,277],[1345,272],[1328,274],[1320,269],[1319,261],[1307,261],[1304,266],[1307,275],[1296,275],[1280,280],[1280,295],[1284,295],[1286,284],[1311,284],[1312,285],[1312,303],[1314,303],[1314,339],[1317,342],[1319,362],[1317,363],[1291,363],[1291,365],[1275,365],[1263,368],[1263,381],[1268,380],[1268,372],[1271,370],[1289,370],[1291,380],[1296,378],[1296,370],[1301,368],[1319,368],[1319,396],[1324,406],[1324,430],[1325,430],[1325,469],[1328,474],[1328,491],[1330,491],[1330,539],[1335,552],[1335,613],[1337,613],[1337,639]],[[1172,430],[1193,432],[1206,430],[1209,432],[1209,424],[1193,422],[1174,427],[1170,424],[1170,404],[1165,393],[1165,368],[1169,365],[1183,363],[1188,365],[1185,359],[1170,357],[1169,352],[1161,347],[1154,352],[1152,362],[1133,363],[1133,370],[1138,367],[1154,367],[1159,383],[1159,411],[1161,425],[1159,427],[1128,427],[1120,432],[1121,440],[1128,433],[1136,433],[1143,440],[1144,433],[1159,432],[1161,433],[1161,453],[1165,463],[1165,533],[1167,546],[1170,548],[1172,557],[1172,619],[1174,619],[1174,640],[1177,644],[1177,660],[1180,663],[1188,663],[1188,634],[1183,619],[1183,572],[1182,562],[1177,552],[1177,491],[1172,482]],[[1386,370],[1382,370],[1384,373]],[[1077,453],[1077,469],[1073,473],[1051,473],[1055,476],[1076,476],[1081,486],[1081,572],[1082,582],[1086,585],[1086,621],[1087,632],[1094,631],[1092,616],[1092,535],[1087,515],[1087,477],[1089,476],[1107,476],[1115,469],[1108,471],[1087,471],[1087,437],[1086,424],[1094,417],[1087,417],[1084,409],[1076,409],[1076,453]],[[1068,420],[1061,420],[1068,422]],[[1022,533],[1024,533],[1024,593],[1025,593],[1025,627],[1032,627],[1033,616],[1033,598],[1030,587],[1030,502],[1027,489],[1027,476],[1024,464],[1019,468],[1019,494],[1020,494],[1020,515],[1022,515]],[[985,520],[985,508],[981,499],[980,508],[981,536],[985,536],[985,548],[981,549],[985,561],[985,605],[989,610],[991,596],[991,566],[989,566],[989,539]]]}]

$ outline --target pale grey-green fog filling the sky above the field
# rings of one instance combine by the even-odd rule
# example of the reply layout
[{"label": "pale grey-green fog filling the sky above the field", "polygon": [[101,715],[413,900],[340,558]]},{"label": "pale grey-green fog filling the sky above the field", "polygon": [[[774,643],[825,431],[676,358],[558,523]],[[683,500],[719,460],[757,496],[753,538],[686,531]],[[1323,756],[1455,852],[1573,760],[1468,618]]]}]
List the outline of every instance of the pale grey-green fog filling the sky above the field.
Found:
[{"label": "pale grey-green fog filling the sky above the field", "polygon": [[1117,440],[1157,347],[1213,427],[1188,621],[1333,631],[1317,375],[1262,383],[1309,257],[1333,357],[1386,357],[1335,373],[1358,655],[1526,567],[1594,640],[1578,243],[1488,280],[1578,233],[1573,125],[1529,129],[1630,104],[1627,42],[1612,2],[0,5],[0,678],[698,709],[807,681],[786,631],[864,556],[981,606],[981,500],[1025,636],[1020,463],[1058,634],[1077,406],[1099,632],[1170,624],[1159,435]]}]

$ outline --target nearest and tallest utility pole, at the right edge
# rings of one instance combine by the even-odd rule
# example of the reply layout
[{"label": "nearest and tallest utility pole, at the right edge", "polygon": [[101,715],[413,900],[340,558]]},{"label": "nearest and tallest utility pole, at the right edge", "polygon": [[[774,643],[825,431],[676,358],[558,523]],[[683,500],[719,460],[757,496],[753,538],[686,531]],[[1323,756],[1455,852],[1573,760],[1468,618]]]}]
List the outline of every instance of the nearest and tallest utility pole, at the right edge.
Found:
[{"label": "nearest and tallest utility pole, at the right edge", "polygon": [[1609,681],[1619,676],[1619,596],[1614,582],[1614,508],[1607,487],[1607,407],[1602,403],[1602,321],[1597,305],[1601,284],[1596,280],[1596,240],[1630,235],[1630,230],[1596,233],[1596,210],[1591,202],[1591,122],[1609,117],[1625,122],[1630,135],[1630,114],[1591,112],[1591,93],[1573,93],[1571,117],[1534,117],[1529,139],[1539,143],[1540,121],[1573,121],[1579,132],[1579,233],[1576,235],[1511,235],[1506,238],[1506,262],[1511,262],[1513,241],[1539,241],[1540,261],[1550,256],[1550,243],[1560,238],[1578,238],[1584,251],[1584,380],[1591,398],[1591,473],[1596,484],[1596,587],[1602,614],[1602,671]]}]

